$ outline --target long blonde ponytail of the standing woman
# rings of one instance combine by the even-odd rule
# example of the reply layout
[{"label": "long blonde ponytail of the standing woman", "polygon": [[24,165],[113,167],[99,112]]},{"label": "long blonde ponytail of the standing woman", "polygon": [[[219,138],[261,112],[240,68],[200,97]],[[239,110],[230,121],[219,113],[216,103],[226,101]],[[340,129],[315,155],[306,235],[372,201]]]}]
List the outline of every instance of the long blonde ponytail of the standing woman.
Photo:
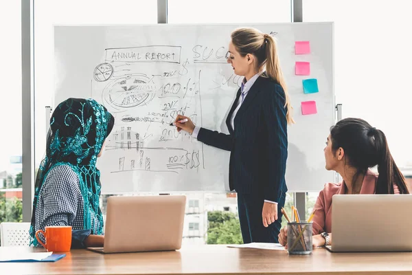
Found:
[{"label": "long blonde ponytail of the standing woman", "polygon": [[290,104],[290,98],[288,89],[286,87],[286,81],[280,68],[279,56],[277,55],[277,45],[275,39],[268,34],[264,34],[264,43],[266,43],[266,73],[270,78],[277,81],[279,85],[284,89],[285,93],[285,105],[286,108],[286,120],[288,124],[293,124],[295,121],[292,118],[292,105]]}]

